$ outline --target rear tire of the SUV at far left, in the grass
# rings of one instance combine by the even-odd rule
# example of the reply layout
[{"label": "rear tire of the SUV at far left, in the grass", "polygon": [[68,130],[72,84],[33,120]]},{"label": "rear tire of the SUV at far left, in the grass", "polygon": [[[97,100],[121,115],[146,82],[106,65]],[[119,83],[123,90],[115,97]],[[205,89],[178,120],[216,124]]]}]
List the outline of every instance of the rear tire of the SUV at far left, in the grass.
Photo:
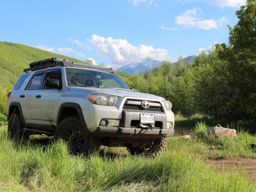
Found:
[{"label": "rear tire of the SUV at far left, in the grass", "polygon": [[22,140],[29,137],[29,133],[25,131],[25,125],[19,113],[13,113],[9,118],[7,133],[14,140]]}]

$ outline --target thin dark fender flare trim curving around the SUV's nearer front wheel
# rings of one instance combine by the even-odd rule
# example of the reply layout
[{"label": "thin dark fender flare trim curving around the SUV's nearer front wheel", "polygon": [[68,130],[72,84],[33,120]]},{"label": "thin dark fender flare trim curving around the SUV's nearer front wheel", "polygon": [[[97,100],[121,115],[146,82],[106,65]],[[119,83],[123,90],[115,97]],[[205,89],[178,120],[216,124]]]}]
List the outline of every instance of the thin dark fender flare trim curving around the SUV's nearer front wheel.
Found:
[{"label": "thin dark fender flare trim curving around the SUV's nearer front wheel", "polygon": [[83,129],[85,130],[85,133],[90,136],[91,135],[91,132],[87,129],[87,125],[85,123],[85,120],[84,120],[84,115],[83,115],[83,111],[82,111],[82,108],[79,104],[77,103],[74,103],[74,102],[65,102],[65,103],[62,103],[59,107],[59,111],[58,111],[58,115],[57,115],[57,126],[58,124],[60,123],[59,122],[59,119],[60,119],[60,115],[61,115],[61,111],[63,108],[65,107],[70,107],[70,108],[74,108],[76,109],[77,113],[78,113],[78,116],[79,116],[79,119],[82,123],[82,126],[83,126]]}]

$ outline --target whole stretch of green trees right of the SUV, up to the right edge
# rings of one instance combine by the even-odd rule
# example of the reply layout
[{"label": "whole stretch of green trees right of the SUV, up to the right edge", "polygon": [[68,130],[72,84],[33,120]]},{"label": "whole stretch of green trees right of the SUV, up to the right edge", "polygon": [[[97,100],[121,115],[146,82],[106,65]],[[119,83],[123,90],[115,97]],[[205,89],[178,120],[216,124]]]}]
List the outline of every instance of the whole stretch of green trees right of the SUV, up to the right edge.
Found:
[{"label": "whole stretch of green trees right of the SUV, up to the right edge", "polygon": [[120,74],[138,91],[161,95],[183,115],[229,119],[256,117],[256,3],[247,1],[229,26],[229,44],[201,53],[192,65],[164,61],[145,74]]}]

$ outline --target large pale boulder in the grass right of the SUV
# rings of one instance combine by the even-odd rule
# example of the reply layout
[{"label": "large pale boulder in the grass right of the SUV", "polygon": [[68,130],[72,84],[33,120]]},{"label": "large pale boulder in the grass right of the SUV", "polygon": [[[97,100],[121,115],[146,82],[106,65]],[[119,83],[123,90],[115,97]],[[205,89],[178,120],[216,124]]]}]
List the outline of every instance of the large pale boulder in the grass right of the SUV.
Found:
[{"label": "large pale boulder in the grass right of the SUV", "polygon": [[218,139],[221,137],[237,138],[236,130],[221,126],[207,127],[207,133],[210,139]]}]

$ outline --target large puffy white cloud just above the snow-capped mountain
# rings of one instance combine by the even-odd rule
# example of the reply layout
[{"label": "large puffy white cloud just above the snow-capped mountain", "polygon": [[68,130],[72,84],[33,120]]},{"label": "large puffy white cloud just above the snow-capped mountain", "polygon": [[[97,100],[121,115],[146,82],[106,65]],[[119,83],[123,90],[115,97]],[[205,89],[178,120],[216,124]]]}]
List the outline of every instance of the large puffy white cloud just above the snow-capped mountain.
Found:
[{"label": "large puffy white cloud just above the snow-capped mountain", "polygon": [[92,35],[87,39],[93,47],[102,55],[107,55],[108,59],[114,64],[125,64],[134,61],[140,61],[145,58],[156,60],[165,60],[168,57],[168,51],[165,49],[155,49],[150,45],[140,44],[134,46],[126,39],[113,39],[112,37],[101,37]]}]

